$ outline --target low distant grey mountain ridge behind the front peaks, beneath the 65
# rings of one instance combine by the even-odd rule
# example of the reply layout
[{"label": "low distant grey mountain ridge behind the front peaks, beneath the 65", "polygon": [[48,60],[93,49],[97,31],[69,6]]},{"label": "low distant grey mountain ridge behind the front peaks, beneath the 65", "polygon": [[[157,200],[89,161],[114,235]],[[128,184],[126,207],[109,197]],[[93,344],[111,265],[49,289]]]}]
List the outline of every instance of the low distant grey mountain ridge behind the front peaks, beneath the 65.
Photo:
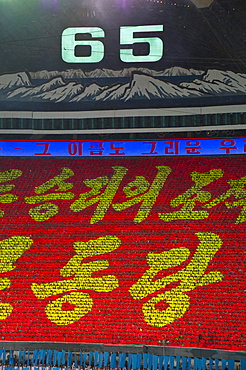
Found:
[{"label": "low distant grey mountain ridge behind the front peaks, beneath the 65", "polygon": [[164,71],[155,71],[148,68],[124,68],[121,70],[113,70],[107,68],[97,68],[93,71],[83,71],[81,69],[67,69],[65,71],[37,71],[30,72],[32,79],[49,79],[54,76],[62,76],[64,79],[71,78],[107,78],[107,77],[131,77],[134,72],[142,72],[150,76],[190,76],[190,75],[201,75],[204,71],[186,69],[181,67],[172,67]]}]

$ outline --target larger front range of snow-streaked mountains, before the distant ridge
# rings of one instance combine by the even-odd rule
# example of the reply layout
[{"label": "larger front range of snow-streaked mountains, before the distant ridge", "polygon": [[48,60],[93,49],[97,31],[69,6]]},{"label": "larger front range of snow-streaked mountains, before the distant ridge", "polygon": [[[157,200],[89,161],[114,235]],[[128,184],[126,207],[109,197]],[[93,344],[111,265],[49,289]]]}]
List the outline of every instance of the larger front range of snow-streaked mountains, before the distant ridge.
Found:
[{"label": "larger front range of snow-streaked mountains, before the distant ridge", "polygon": [[[87,101],[150,101],[153,99],[246,94],[246,74],[208,70],[201,76],[201,79],[194,77],[191,82],[175,84],[143,73],[143,70],[145,69],[136,72],[133,68],[126,68],[122,70],[122,73],[131,71],[130,82],[107,86],[101,86],[97,81],[83,86],[76,81],[65,82],[61,76],[52,77],[49,81],[34,86],[25,72],[3,75],[0,76],[0,87],[1,84],[4,86],[0,90],[1,99],[55,103],[76,102],[82,104]],[[98,71],[103,71],[108,75],[110,73],[110,70],[97,70],[95,75],[99,74]],[[172,73],[175,73],[175,69]],[[181,70],[177,73],[181,73]]]}]

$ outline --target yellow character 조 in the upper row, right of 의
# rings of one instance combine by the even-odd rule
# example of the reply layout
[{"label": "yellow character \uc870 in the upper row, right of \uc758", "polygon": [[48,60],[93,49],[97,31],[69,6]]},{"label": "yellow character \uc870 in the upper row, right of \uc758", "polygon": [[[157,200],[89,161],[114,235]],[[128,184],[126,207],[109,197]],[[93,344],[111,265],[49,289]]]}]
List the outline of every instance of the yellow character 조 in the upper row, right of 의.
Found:
[{"label": "yellow character \uc870 in the upper row, right of \uc758", "polygon": [[[160,219],[163,221],[203,220],[209,217],[207,211],[194,211],[193,209],[196,206],[196,202],[205,203],[211,198],[211,193],[201,189],[222,176],[223,171],[221,169],[210,170],[205,173],[191,172],[191,179],[195,185],[170,202],[172,207],[178,207],[180,204],[184,205],[179,211],[159,213]],[[196,196],[194,197],[194,195]]]}]

